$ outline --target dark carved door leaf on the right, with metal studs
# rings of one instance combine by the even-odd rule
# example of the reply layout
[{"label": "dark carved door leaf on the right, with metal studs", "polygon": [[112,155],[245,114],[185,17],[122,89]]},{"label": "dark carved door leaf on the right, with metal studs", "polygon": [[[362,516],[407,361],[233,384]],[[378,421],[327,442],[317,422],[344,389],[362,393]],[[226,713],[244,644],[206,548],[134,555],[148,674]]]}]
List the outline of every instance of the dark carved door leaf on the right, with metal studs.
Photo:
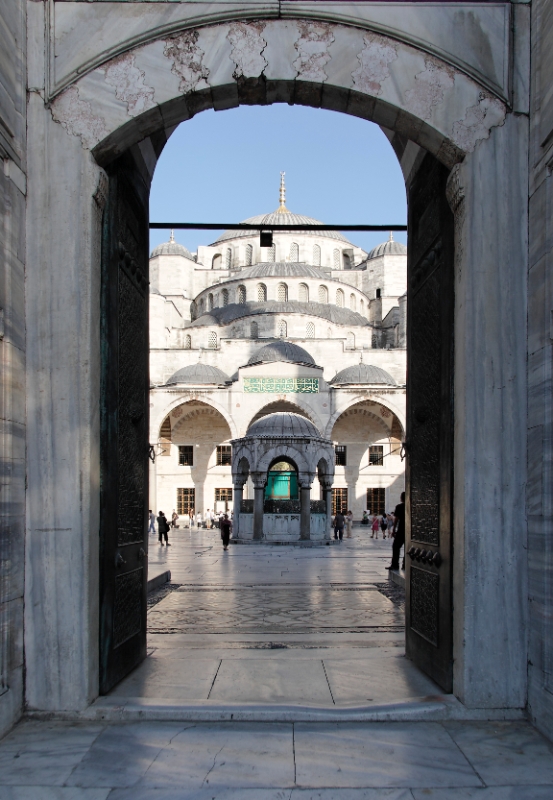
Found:
[{"label": "dark carved door leaf on the right, with metal studs", "polygon": [[453,214],[427,155],[409,189],[406,653],[452,690]]}]

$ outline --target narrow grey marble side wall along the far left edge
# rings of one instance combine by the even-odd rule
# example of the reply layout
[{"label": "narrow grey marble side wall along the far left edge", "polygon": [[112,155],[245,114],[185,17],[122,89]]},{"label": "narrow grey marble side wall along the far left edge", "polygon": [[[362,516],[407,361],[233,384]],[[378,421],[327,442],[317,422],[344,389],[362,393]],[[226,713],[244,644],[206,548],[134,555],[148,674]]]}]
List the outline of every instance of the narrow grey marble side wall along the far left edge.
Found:
[{"label": "narrow grey marble side wall along the far left edge", "polygon": [[0,736],[23,705],[25,2],[0,5]]}]

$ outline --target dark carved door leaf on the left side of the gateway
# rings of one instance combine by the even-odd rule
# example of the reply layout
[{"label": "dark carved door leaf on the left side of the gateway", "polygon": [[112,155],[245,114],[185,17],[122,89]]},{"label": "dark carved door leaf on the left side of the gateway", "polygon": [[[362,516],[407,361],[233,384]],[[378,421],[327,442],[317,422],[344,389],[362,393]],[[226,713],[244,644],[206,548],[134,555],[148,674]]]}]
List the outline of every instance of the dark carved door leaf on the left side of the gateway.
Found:
[{"label": "dark carved door leaf on the left side of the gateway", "polygon": [[102,242],[100,692],[146,656],[148,190],[108,170]]}]

